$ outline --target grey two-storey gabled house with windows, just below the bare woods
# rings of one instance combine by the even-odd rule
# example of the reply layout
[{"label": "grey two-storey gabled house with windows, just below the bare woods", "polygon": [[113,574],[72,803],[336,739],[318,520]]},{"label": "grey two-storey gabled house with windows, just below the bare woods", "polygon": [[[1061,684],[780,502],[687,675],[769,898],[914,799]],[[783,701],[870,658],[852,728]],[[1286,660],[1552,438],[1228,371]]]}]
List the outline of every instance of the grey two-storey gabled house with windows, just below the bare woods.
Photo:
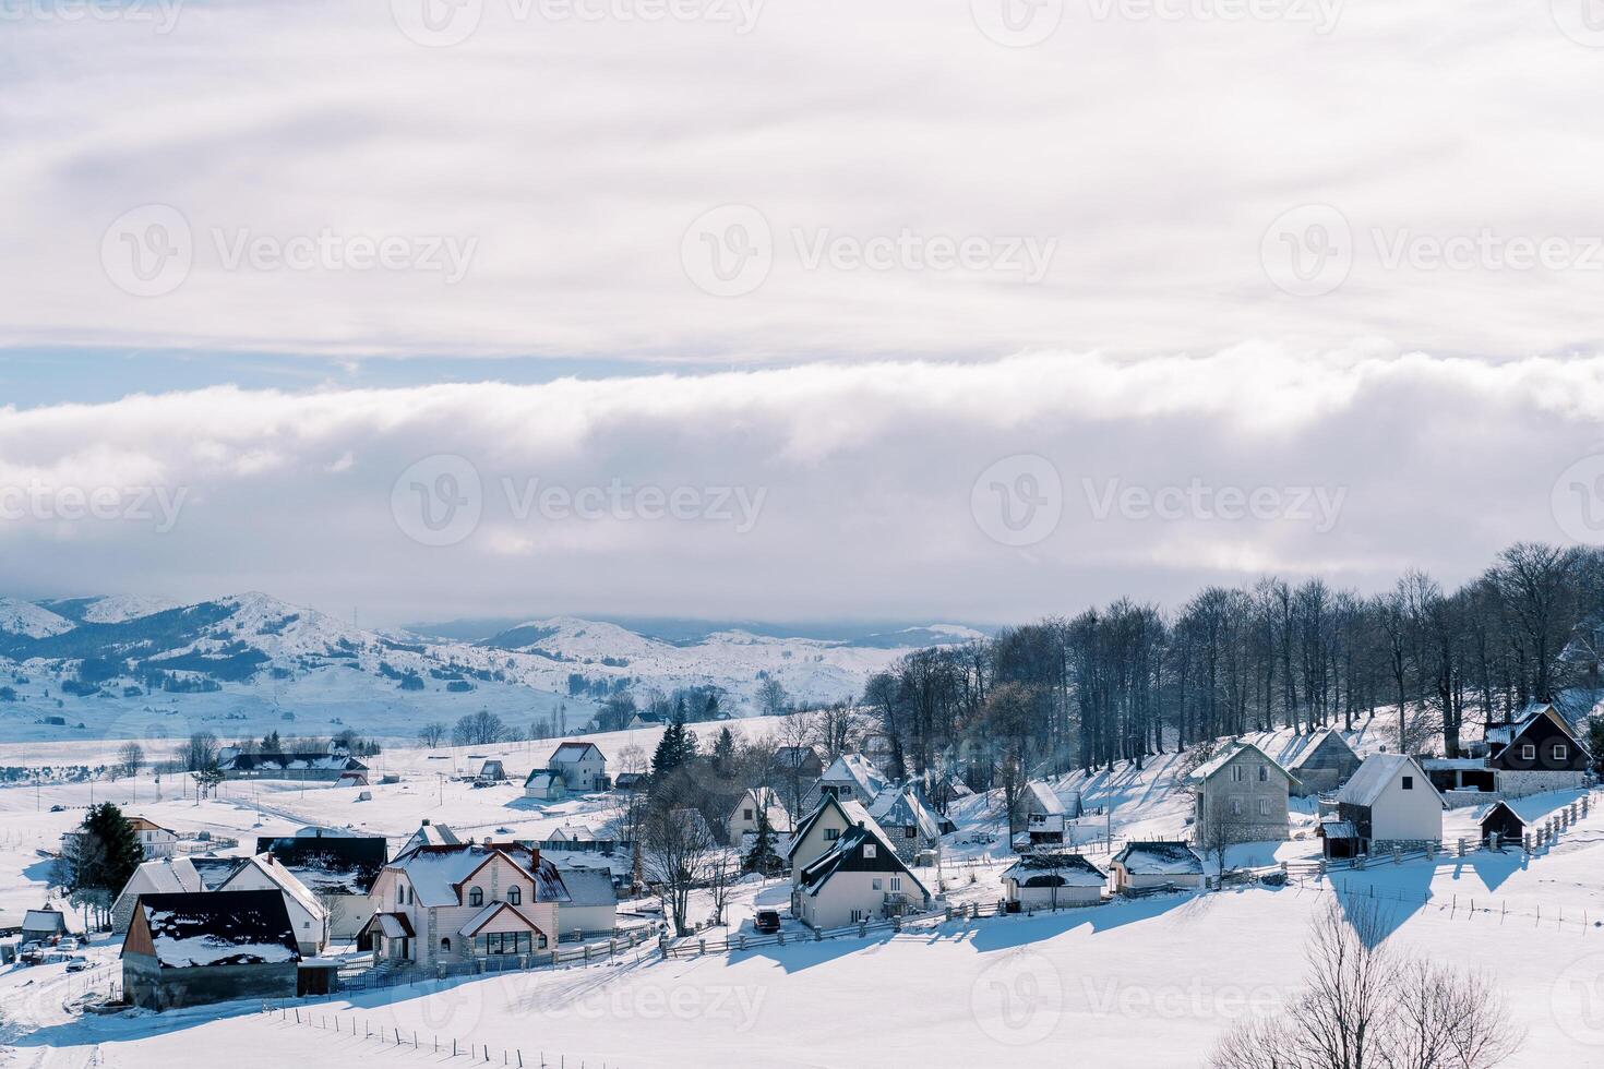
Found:
[{"label": "grey two-storey gabled house with windows, just below the bare woods", "polygon": [[1254,843],[1291,838],[1286,800],[1296,777],[1251,742],[1232,742],[1187,776],[1192,841]]}]

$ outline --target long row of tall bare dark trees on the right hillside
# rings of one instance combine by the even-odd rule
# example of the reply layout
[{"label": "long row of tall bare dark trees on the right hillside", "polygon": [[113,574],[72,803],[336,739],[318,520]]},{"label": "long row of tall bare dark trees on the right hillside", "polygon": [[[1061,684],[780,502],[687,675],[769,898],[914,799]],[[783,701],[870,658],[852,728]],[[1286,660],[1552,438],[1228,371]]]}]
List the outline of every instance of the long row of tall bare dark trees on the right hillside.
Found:
[{"label": "long row of tall bare dark trees on the right hillside", "polygon": [[1456,755],[1468,724],[1598,686],[1601,604],[1604,551],[1541,543],[1452,591],[1420,571],[1371,596],[1270,575],[916,651],[869,680],[863,712],[892,776],[962,769],[977,789],[1246,731],[1352,729],[1384,707],[1405,710],[1397,748]]}]

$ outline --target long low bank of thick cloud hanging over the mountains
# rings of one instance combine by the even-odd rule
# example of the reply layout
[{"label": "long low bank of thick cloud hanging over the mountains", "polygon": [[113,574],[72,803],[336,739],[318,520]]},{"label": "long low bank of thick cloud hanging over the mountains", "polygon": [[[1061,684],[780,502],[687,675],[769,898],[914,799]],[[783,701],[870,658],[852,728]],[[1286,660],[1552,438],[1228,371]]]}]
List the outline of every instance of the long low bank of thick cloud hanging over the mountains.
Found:
[{"label": "long low bank of thick cloud hanging over the mountains", "polygon": [[[170,534],[0,521],[0,588],[263,588],[391,620],[1006,620],[1121,593],[1174,601],[1258,569],[1370,588],[1418,564],[1452,582],[1508,542],[1562,539],[1551,490],[1604,447],[1601,415],[1604,357],[1490,365],[1373,343],[0,409],[3,484],[186,495]],[[991,487],[972,490],[1019,454],[1057,470],[1062,521],[1011,548],[972,513]],[[431,455],[472,470],[439,468],[448,484],[414,470],[419,500],[472,492],[483,510],[444,547],[411,539],[420,514],[391,503]]]}]

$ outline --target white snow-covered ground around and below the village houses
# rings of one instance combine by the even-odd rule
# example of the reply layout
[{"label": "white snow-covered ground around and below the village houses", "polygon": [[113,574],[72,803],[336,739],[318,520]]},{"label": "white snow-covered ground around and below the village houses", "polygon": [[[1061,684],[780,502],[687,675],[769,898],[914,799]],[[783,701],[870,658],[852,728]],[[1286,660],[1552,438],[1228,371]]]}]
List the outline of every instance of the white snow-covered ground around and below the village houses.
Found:
[{"label": "white snow-covered ground around and below the village houses", "polygon": [[[775,728],[772,721],[731,726],[739,732]],[[1384,742],[1384,726],[1378,721],[1359,737],[1360,747]],[[659,731],[595,740],[616,760],[630,745],[650,752]],[[1277,756],[1294,745],[1286,732],[1256,740]],[[422,817],[480,837],[508,829],[520,838],[544,838],[569,822],[598,829],[610,808],[603,797],[536,806],[516,784],[472,789],[449,779],[476,771],[484,756],[499,756],[521,779],[544,763],[550,745],[387,752],[375,773],[396,773],[403,782],[375,782],[372,801],[358,801],[354,789],[290,784],[228,784],[223,797],[204,803],[173,798],[172,784],[164,784],[164,798],[156,801],[148,776],[93,790],[95,800],[111,798],[181,833],[205,830],[245,845],[257,833],[308,822],[351,824],[393,843]],[[1116,840],[1179,837],[1187,811],[1176,790],[1182,764],[1161,755],[1140,771],[1073,773],[1054,787],[1107,808],[1104,830]],[[48,861],[37,851],[51,849],[79,819],[88,792],[87,784],[0,789],[0,922],[14,922],[21,909],[43,901]],[[1557,806],[1575,797],[1546,801]],[[50,813],[51,805],[67,809]],[[919,875],[932,886],[940,880],[954,904],[993,902],[1011,861],[993,806],[970,798],[953,816],[959,830],[948,840],[942,870]],[[1307,809],[1294,813],[1291,841],[1241,846],[1233,862],[1317,856],[1312,819]],[[1088,833],[1096,830],[1092,822]],[[1448,813],[1444,833],[1472,837],[1469,811]],[[1107,859],[1097,845],[1084,849],[1094,861]],[[741,885],[727,928],[706,933],[707,939],[749,933],[754,909],[783,906],[786,891],[784,881]],[[1604,813],[1598,806],[1557,846],[1530,859],[1474,853],[1373,864],[1338,875],[1335,886],[1310,880],[1057,915],[917,922],[901,934],[863,939],[810,942],[788,922],[786,931],[797,939],[788,936],[784,947],[662,962],[648,944],[605,965],[289,1003],[289,1016],[265,1015],[260,1003],[85,1015],[80,1003],[103,992],[117,970],[117,947],[101,938],[90,949],[96,966],[88,973],[66,974],[63,965],[0,970],[5,1064],[157,1069],[228,1050],[237,1069],[369,1059],[467,1069],[473,1059],[449,1053],[456,1040],[459,1051],[473,1045],[476,1064],[484,1064],[488,1048],[492,1064],[504,1056],[518,1064],[521,1056],[523,1064],[537,1066],[544,1056],[547,1064],[626,1069],[1198,1066],[1233,1021],[1274,1011],[1298,990],[1310,920],[1328,902],[1351,907],[1371,896],[1384,904],[1389,938],[1399,946],[1492,974],[1513,1019],[1529,1032],[1509,1066],[1604,1069]],[[693,899],[693,917],[707,912],[704,896]],[[401,1047],[393,1042],[398,1032],[406,1040]],[[420,1048],[409,1045],[414,1034]]]}]

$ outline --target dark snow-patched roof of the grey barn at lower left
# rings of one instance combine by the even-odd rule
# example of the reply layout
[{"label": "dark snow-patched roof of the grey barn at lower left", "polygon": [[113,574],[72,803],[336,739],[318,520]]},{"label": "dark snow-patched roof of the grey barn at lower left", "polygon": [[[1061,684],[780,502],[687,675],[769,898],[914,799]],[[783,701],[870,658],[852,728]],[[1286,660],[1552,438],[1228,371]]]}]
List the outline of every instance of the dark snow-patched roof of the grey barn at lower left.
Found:
[{"label": "dark snow-patched roof of the grey barn at lower left", "polygon": [[277,891],[141,894],[122,952],[143,923],[162,968],[300,962]]}]

